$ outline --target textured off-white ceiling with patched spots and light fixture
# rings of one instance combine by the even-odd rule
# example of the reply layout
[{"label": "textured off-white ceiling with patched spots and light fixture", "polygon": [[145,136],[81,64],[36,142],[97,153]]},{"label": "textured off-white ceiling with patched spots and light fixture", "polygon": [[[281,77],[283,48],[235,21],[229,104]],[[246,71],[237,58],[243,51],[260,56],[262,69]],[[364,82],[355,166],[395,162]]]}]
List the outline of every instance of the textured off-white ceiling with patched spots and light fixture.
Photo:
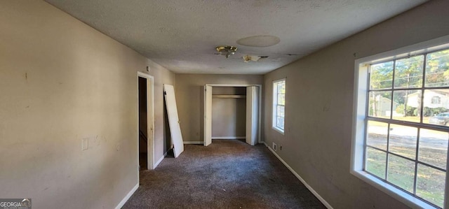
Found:
[{"label": "textured off-white ceiling with patched spots and light fixture", "polygon": [[[46,1],[175,73],[264,74],[426,0]],[[237,43],[267,35],[280,42]],[[218,45],[239,50],[226,59]]]}]

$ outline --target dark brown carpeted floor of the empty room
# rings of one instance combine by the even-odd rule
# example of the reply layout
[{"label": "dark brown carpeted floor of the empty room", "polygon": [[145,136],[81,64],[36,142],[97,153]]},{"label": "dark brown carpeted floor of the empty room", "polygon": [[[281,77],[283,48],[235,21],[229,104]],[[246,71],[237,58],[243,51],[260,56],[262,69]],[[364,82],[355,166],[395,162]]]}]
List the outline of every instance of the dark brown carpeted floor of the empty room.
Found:
[{"label": "dark brown carpeted floor of the empty room", "polygon": [[185,145],[154,171],[123,208],[325,208],[264,145],[213,140]]}]

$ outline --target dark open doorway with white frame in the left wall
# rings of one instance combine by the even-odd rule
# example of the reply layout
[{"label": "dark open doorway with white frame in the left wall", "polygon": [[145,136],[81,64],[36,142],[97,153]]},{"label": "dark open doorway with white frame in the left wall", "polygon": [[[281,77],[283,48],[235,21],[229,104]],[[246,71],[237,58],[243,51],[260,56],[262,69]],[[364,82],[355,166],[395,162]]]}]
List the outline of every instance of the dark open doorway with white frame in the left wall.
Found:
[{"label": "dark open doorway with white frame in the left wall", "polygon": [[138,162],[140,170],[154,169],[154,78],[138,72]]}]

